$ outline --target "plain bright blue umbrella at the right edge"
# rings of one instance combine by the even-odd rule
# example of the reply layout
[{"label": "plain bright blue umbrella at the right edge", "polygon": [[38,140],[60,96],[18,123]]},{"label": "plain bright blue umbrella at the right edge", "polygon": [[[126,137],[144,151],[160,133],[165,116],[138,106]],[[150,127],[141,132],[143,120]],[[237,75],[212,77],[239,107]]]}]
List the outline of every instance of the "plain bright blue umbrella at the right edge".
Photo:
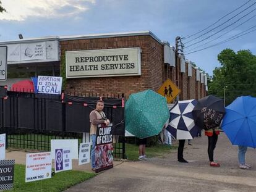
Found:
[{"label": "plain bright blue umbrella at the right edge", "polygon": [[222,128],[232,144],[256,148],[256,98],[236,98],[226,107]]}]

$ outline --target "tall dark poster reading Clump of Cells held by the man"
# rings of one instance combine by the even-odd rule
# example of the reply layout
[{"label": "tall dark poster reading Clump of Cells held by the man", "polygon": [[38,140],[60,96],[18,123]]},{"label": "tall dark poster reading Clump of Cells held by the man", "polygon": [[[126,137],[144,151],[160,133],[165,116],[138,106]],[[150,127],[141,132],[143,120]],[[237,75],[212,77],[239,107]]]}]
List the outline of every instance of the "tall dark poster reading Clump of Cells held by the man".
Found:
[{"label": "tall dark poster reading Clump of Cells held by the man", "polygon": [[113,124],[108,127],[105,124],[98,124],[96,131],[95,146],[95,172],[110,169],[113,167]]}]

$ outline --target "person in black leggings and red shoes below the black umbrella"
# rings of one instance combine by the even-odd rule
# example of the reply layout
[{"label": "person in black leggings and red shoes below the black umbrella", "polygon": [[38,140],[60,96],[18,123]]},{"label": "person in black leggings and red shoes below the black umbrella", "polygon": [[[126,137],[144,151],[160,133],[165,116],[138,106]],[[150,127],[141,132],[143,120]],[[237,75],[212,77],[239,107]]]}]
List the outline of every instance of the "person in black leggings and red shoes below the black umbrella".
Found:
[{"label": "person in black leggings and red shoes below the black umbrella", "polygon": [[210,128],[209,130],[205,130],[205,135],[208,137],[208,156],[211,167],[220,167],[220,164],[213,161],[213,151],[216,147],[216,143],[218,141],[218,135],[220,135],[219,127]]}]

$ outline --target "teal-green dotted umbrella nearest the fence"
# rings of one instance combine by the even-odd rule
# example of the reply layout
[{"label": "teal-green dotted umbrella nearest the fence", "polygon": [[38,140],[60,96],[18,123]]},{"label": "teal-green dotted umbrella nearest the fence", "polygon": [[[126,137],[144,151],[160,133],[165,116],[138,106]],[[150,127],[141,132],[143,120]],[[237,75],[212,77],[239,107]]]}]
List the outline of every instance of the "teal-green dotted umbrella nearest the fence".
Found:
[{"label": "teal-green dotted umbrella nearest the fence", "polygon": [[131,94],[126,102],[126,130],[139,138],[158,135],[168,119],[166,98],[155,91]]}]

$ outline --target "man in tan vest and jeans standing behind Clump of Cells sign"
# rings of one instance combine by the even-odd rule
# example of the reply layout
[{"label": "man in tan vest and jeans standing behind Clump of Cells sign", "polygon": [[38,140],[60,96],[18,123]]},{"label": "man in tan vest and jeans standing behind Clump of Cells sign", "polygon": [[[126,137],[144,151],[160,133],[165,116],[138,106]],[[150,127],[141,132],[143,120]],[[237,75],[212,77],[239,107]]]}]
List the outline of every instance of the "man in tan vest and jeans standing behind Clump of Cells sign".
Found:
[{"label": "man in tan vest and jeans standing behind Clump of Cells sign", "polygon": [[103,112],[104,102],[99,100],[96,102],[96,109],[90,113],[90,136],[92,141],[92,152],[91,152],[91,161],[92,161],[92,170],[95,171],[95,144],[96,144],[96,130],[97,124],[105,123],[106,126],[109,125],[109,120],[106,119],[106,115]]}]

